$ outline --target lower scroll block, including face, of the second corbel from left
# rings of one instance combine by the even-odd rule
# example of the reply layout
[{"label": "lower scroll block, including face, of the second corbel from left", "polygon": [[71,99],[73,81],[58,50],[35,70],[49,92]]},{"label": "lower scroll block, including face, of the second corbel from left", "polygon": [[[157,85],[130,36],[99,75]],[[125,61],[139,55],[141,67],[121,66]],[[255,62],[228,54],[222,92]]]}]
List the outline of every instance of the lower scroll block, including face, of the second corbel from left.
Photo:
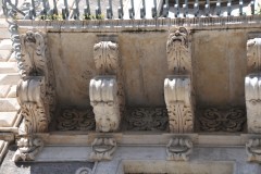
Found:
[{"label": "lower scroll block, including face, of the second corbel from left", "polygon": [[90,80],[89,97],[94,107],[97,132],[115,132],[121,122],[117,84],[114,76],[98,76]]}]

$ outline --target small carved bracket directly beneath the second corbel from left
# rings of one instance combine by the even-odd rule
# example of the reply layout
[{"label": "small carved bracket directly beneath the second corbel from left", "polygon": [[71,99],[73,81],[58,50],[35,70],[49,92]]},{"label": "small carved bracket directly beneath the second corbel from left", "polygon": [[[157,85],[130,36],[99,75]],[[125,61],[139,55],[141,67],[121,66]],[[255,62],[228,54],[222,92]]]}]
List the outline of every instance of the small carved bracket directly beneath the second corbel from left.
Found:
[{"label": "small carved bracket directly beneath the second corbel from left", "polygon": [[95,138],[91,144],[92,152],[90,153],[90,160],[92,161],[108,161],[112,160],[112,156],[116,150],[116,140],[114,138]]}]

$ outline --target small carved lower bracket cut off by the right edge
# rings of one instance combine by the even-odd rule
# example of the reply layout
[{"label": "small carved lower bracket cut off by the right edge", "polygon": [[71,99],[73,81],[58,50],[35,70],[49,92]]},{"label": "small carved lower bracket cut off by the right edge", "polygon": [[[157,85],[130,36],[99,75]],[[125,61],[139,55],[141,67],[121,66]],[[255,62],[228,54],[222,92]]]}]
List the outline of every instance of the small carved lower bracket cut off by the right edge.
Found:
[{"label": "small carved lower bracket cut off by the right edge", "polygon": [[261,163],[261,139],[249,139],[246,144],[248,161]]}]

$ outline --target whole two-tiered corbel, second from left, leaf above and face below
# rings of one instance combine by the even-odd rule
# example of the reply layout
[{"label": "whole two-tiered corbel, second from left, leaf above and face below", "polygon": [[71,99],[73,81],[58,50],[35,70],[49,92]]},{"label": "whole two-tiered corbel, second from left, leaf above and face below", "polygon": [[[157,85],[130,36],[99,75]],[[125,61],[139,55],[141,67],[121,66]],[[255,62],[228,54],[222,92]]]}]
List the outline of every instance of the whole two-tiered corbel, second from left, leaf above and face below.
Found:
[{"label": "whole two-tiered corbel, second from left, leaf above and face below", "polygon": [[119,129],[125,105],[117,44],[111,41],[96,44],[94,59],[99,76],[90,80],[89,96],[96,117],[96,129],[115,132]]}]

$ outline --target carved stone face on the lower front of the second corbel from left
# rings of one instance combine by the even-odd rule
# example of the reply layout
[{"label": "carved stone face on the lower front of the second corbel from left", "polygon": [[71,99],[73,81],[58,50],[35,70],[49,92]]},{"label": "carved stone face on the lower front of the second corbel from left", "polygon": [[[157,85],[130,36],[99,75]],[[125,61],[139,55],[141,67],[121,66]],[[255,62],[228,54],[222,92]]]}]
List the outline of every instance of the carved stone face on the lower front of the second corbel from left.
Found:
[{"label": "carved stone face on the lower front of the second corbel from left", "polygon": [[114,105],[97,105],[94,108],[96,129],[99,132],[115,132],[120,124],[120,108]]}]

